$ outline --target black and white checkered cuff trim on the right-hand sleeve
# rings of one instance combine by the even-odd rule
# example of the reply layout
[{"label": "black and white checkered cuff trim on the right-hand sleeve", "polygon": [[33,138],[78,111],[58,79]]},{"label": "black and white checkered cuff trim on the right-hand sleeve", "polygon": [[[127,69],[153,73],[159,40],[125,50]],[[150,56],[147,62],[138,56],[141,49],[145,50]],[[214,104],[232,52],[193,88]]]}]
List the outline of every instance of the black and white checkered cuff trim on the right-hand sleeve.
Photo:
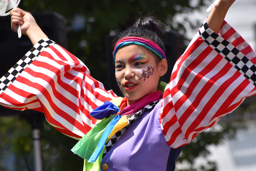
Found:
[{"label": "black and white checkered cuff trim on the right-hand sleeve", "polygon": [[206,21],[199,28],[199,35],[210,47],[221,54],[230,62],[242,75],[256,86],[256,66],[244,56],[236,47],[214,33]]}]

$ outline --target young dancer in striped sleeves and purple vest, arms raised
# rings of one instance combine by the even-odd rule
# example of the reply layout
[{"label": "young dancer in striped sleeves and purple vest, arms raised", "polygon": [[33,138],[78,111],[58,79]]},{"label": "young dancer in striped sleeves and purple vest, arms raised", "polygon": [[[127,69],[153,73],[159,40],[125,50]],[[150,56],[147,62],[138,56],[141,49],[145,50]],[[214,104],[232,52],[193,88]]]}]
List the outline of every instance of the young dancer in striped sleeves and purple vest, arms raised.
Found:
[{"label": "young dancer in striped sleeves and purple vest, arms raised", "polygon": [[20,24],[34,47],[0,79],[0,103],[42,111],[54,128],[80,140],[72,151],[89,161],[85,170],[174,170],[180,147],[256,93],[256,54],[224,21],[233,2],[220,0],[212,10],[163,94],[162,23],[140,18],[118,35],[113,57],[121,100],[49,40],[30,13],[14,9],[12,30]]}]

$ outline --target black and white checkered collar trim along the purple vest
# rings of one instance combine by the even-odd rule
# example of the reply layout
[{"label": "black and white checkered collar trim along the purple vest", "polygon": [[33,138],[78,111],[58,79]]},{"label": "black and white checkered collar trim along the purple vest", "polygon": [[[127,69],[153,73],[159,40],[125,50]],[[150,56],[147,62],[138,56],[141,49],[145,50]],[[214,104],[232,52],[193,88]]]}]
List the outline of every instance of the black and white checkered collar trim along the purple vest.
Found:
[{"label": "black and white checkered collar trim along the purple vest", "polygon": [[102,158],[109,152],[110,148],[113,147],[113,145],[117,142],[117,140],[119,140],[119,138],[125,133],[125,131],[127,130],[127,128],[145,111],[148,110],[152,110],[154,109],[155,105],[157,105],[157,103],[160,100],[157,100],[155,102],[152,102],[150,104],[148,104],[147,106],[143,107],[142,109],[140,109],[138,112],[136,112],[134,115],[132,115],[131,118],[129,118],[129,124],[127,126],[125,126],[123,129],[119,130],[116,134],[114,134],[108,144],[106,145],[105,151],[103,152]]}]

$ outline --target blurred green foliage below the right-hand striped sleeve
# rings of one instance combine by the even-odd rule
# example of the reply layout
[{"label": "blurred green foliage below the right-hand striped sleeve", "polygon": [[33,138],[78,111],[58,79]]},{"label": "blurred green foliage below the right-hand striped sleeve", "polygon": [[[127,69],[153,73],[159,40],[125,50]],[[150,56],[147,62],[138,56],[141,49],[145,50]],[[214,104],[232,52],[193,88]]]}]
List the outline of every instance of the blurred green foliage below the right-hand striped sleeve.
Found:
[{"label": "blurred green foliage below the right-hand striped sleeve", "polygon": [[238,128],[243,127],[234,125],[230,121],[219,121],[214,128],[198,134],[192,142],[183,147],[181,155],[176,160],[176,163],[185,161],[189,165],[188,169],[180,171],[217,171],[217,165],[214,161],[207,160],[206,165],[195,166],[194,160],[196,157],[207,157],[210,154],[207,150],[209,145],[219,145],[223,140],[233,139]]}]

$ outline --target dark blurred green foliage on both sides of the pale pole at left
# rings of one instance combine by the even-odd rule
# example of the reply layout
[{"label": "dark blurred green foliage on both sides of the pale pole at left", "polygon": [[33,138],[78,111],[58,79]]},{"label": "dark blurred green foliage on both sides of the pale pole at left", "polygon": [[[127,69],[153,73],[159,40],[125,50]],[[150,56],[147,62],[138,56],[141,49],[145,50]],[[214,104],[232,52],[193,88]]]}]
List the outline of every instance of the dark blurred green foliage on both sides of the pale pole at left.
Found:
[{"label": "dark blurred green foliage on both sides of the pale pole at left", "polygon": [[[32,130],[29,123],[18,116],[0,117],[0,135],[0,171],[34,171]],[[76,142],[44,121],[44,129],[41,130],[43,170],[82,171],[83,159],[71,152]]]}]

